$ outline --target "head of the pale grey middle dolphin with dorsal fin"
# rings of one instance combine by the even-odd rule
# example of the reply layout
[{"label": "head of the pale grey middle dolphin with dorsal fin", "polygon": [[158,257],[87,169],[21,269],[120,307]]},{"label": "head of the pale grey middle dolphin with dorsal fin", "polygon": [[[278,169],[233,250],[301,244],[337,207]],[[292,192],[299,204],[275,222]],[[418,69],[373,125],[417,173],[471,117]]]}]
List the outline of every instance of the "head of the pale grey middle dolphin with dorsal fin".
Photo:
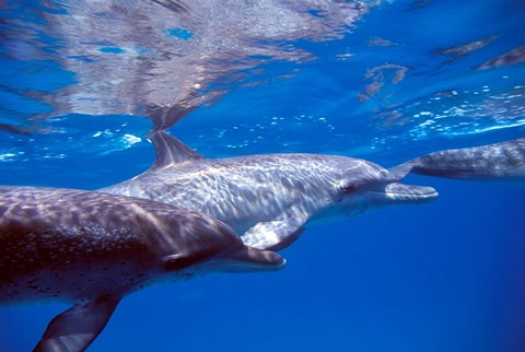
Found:
[{"label": "head of the pale grey middle dolphin with dorsal fin", "polygon": [[351,157],[335,157],[331,200],[319,218],[357,216],[389,204],[421,203],[438,197],[431,187],[398,183],[377,164]]}]

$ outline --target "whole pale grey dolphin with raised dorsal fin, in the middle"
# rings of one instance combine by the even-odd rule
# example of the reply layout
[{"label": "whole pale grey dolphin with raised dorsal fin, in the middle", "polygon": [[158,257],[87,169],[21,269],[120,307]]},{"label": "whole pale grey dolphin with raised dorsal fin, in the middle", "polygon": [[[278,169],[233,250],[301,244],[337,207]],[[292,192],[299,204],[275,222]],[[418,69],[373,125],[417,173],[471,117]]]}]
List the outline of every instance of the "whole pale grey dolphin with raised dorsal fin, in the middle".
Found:
[{"label": "whole pale grey dolphin with raised dorsal fin, in the middle", "polygon": [[259,249],[282,249],[310,224],[438,196],[430,187],[399,184],[387,169],[361,159],[262,154],[215,160],[164,131],[151,133],[150,139],[156,151],[153,165],[100,191],[210,215]]}]

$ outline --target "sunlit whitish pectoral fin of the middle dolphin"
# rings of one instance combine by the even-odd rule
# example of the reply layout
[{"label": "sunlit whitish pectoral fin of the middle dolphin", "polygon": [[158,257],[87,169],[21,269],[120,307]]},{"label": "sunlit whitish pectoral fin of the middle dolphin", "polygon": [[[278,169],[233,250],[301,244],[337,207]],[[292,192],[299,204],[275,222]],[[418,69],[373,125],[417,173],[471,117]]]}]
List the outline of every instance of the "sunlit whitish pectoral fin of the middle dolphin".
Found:
[{"label": "sunlit whitish pectoral fin of the middle dolphin", "polygon": [[294,243],[303,233],[304,226],[285,220],[259,222],[241,238],[249,247],[266,250],[280,250]]}]

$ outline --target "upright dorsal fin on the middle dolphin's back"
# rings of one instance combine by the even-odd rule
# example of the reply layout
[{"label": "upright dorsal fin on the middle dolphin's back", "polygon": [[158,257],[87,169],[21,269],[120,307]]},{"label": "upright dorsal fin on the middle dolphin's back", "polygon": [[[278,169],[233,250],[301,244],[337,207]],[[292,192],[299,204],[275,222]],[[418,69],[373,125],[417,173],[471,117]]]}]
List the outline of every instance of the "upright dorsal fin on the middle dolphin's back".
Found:
[{"label": "upright dorsal fin on the middle dolphin's back", "polygon": [[149,138],[156,152],[155,162],[151,168],[203,159],[191,148],[164,131],[154,131]]}]

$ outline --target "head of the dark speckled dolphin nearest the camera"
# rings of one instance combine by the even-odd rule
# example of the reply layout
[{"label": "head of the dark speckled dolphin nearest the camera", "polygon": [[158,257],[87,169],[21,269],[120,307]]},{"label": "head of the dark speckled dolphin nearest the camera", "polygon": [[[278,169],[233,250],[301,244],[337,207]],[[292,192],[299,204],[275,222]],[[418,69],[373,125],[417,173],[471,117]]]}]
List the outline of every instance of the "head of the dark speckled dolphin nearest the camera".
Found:
[{"label": "head of the dark speckled dolphin nearest the camera", "polygon": [[215,219],[188,212],[186,219],[176,223],[177,250],[164,257],[165,270],[176,275],[268,271],[285,263],[277,253],[244,245],[230,226]]}]

